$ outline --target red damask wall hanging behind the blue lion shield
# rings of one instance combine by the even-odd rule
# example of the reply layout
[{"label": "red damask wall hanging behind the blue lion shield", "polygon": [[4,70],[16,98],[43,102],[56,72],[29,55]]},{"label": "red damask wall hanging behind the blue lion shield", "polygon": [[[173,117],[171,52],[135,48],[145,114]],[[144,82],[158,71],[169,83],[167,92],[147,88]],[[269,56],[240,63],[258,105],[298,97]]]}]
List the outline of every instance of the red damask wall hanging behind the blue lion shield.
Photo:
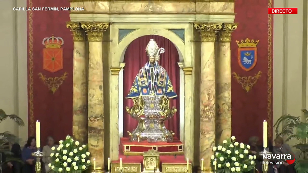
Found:
[{"label": "red damask wall hanging behind the blue lion shield", "polygon": [[[272,137],[272,86],[273,86],[273,16],[268,15],[268,8],[273,6],[273,0],[236,0],[235,22],[238,28],[232,35],[231,43],[231,73],[251,78],[261,71],[251,89],[247,92],[232,77],[232,135],[237,140],[248,142],[250,136],[263,137],[263,120],[269,123],[268,136]],[[237,41],[260,40],[257,45],[257,64],[249,72],[244,71],[237,61]],[[250,80],[249,83],[253,81]]]}]

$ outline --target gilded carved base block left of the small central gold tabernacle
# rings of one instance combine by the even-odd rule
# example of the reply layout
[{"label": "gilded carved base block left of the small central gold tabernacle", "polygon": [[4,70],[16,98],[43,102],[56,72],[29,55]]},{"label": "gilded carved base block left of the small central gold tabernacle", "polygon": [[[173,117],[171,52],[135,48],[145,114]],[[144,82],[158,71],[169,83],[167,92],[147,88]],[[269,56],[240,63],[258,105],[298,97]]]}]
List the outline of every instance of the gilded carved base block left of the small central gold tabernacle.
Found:
[{"label": "gilded carved base block left of the small central gold tabernacle", "polygon": [[[111,163],[111,173],[121,173],[120,163]],[[141,173],[141,163],[122,163],[122,173]]]}]

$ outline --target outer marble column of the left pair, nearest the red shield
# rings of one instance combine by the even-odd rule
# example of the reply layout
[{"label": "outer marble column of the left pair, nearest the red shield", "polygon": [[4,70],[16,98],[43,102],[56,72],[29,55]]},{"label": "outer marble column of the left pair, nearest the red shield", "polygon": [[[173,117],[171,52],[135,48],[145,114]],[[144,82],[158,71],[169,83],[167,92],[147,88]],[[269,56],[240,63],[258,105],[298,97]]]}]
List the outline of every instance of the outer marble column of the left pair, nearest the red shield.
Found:
[{"label": "outer marble column of the left pair, nearest the red shield", "polygon": [[85,32],[78,22],[67,22],[73,33],[73,137],[86,144],[88,142],[88,59],[86,56]]}]

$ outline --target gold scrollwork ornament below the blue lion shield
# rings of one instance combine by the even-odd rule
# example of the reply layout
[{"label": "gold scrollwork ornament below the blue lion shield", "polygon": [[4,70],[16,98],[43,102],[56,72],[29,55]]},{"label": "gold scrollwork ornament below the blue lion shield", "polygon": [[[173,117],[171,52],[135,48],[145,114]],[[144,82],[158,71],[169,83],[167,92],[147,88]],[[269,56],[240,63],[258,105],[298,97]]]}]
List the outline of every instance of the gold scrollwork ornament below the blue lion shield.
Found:
[{"label": "gold scrollwork ornament below the blue lion shield", "polygon": [[254,76],[240,76],[236,74],[235,72],[232,73],[233,77],[237,80],[239,84],[242,85],[242,88],[246,91],[249,92],[253,85],[255,85],[258,81],[258,79],[261,77],[262,72],[259,71],[257,74]]}]

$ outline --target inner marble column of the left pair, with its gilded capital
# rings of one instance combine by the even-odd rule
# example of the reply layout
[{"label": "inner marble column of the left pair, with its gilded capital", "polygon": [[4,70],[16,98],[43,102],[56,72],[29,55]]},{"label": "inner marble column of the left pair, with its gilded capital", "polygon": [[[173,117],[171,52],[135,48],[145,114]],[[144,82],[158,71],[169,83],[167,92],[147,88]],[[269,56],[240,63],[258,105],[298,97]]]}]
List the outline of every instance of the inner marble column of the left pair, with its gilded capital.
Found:
[{"label": "inner marble column of the left pair, with its gilded capital", "polygon": [[[109,24],[81,23],[89,41],[88,147],[96,173],[104,172],[103,32]],[[93,167],[91,168],[93,170]]]}]

